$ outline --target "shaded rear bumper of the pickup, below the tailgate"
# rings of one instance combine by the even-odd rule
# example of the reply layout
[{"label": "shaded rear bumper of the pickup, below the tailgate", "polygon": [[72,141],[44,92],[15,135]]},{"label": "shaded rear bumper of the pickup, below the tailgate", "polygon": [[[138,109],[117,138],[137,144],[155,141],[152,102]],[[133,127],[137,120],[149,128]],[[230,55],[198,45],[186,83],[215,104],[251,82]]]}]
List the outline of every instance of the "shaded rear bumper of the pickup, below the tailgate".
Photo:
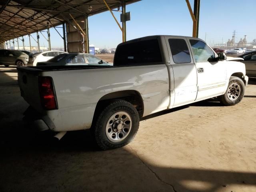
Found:
[{"label": "shaded rear bumper of the pickup, below the tailgate", "polygon": [[39,113],[31,106],[29,106],[24,112],[23,120],[26,121],[30,127],[38,131],[55,129],[54,123],[47,115]]}]

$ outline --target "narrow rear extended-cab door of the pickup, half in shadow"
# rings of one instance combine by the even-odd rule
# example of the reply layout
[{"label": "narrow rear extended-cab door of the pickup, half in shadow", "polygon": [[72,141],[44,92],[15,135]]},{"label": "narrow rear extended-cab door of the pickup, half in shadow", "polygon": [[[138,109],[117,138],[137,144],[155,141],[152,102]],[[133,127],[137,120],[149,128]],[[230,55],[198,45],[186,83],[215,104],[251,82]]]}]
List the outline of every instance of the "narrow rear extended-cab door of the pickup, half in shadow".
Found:
[{"label": "narrow rear extended-cab door of the pickup, half in shadow", "polygon": [[166,36],[166,44],[170,56],[168,67],[174,76],[174,86],[171,85],[170,90],[174,99],[171,98],[170,107],[193,102],[197,94],[197,76],[188,42],[185,37]]}]

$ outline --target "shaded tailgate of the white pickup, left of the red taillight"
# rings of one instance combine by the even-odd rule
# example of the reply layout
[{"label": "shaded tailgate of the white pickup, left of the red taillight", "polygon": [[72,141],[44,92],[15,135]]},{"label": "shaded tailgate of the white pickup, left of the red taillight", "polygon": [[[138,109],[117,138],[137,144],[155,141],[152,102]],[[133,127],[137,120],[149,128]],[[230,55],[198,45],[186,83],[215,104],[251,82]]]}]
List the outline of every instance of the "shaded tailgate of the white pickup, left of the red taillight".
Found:
[{"label": "shaded tailgate of the white pickup, left of the red taillight", "polygon": [[38,112],[42,111],[38,90],[38,75],[42,70],[28,67],[17,67],[17,70],[21,96]]}]

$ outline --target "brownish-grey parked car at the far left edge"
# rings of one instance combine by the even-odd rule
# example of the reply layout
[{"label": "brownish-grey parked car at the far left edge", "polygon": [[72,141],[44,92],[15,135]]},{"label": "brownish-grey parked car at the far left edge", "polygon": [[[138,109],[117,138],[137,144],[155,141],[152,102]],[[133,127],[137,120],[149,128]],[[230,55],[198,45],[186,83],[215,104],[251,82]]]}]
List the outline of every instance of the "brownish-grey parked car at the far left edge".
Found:
[{"label": "brownish-grey parked car at the far left edge", "polygon": [[28,55],[19,50],[0,50],[0,64],[8,67],[9,65],[25,66],[28,63]]}]

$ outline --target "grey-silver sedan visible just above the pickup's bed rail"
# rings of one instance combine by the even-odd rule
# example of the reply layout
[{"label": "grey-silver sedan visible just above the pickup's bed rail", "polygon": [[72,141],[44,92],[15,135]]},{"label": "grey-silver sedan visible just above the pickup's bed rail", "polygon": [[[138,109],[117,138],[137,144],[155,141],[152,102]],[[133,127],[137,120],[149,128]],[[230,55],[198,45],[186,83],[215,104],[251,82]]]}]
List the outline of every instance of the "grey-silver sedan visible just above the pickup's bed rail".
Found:
[{"label": "grey-silver sedan visible just above the pickup's bed rail", "polygon": [[38,62],[36,66],[57,66],[57,65],[113,65],[101,58],[87,53],[66,53],[60,54],[48,61]]}]

